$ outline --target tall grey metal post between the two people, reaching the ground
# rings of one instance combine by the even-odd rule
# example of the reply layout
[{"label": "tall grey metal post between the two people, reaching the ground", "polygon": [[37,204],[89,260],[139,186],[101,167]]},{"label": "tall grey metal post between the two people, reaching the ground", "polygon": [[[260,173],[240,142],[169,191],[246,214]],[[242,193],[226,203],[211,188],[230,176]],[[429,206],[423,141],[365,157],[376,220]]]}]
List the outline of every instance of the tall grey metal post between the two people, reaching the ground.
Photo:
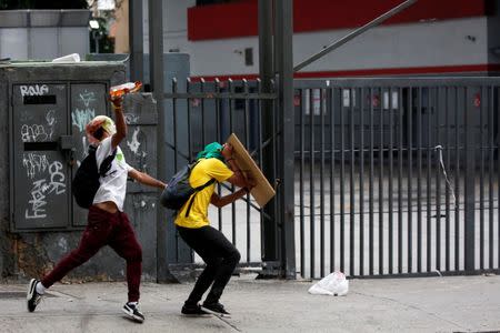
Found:
[{"label": "tall grey metal post between the two people, reaching the ground", "polygon": [[[149,11],[149,72],[150,84],[158,108],[157,178],[166,179],[166,113],[163,108],[163,1],[148,0]],[[171,281],[167,261],[166,210],[157,205],[157,281]]]}]

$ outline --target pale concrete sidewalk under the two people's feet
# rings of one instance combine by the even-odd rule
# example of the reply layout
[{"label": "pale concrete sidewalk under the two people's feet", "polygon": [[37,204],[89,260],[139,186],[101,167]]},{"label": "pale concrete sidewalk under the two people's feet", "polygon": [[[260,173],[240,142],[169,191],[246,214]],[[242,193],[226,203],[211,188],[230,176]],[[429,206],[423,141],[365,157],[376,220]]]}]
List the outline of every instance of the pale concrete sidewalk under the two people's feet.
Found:
[{"label": "pale concrete sidewalk under the two people's feet", "polygon": [[484,332],[500,331],[500,276],[351,280],[347,296],[311,282],[233,278],[231,319],[186,317],[192,284],[143,283],[143,324],[122,317],[124,283],[56,284],[28,313],[26,285],[0,285],[0,332]]}]

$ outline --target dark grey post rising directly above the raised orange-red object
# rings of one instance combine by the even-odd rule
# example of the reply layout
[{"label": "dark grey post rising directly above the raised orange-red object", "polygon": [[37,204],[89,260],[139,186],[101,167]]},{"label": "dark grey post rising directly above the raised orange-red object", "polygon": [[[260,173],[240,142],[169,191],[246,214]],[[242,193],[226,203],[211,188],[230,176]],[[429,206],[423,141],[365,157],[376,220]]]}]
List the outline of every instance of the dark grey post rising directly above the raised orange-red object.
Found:
[{"label": "dark grey post rising directly above the raised orange-red object", "polygon": [[142,0],[129,0],[130,80],[143,81]]}]

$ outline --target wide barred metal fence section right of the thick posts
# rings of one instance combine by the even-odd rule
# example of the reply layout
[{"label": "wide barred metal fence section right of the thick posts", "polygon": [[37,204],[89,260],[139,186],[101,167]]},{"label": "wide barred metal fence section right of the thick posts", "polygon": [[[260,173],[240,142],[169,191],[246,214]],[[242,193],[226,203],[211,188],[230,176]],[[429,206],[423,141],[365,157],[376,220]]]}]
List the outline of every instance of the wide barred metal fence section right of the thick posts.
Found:
[{"label": "wide barred metal fence section right of the thick posts", "polygon": [[303,278],[499,270],[499,79],[294,88]]}]

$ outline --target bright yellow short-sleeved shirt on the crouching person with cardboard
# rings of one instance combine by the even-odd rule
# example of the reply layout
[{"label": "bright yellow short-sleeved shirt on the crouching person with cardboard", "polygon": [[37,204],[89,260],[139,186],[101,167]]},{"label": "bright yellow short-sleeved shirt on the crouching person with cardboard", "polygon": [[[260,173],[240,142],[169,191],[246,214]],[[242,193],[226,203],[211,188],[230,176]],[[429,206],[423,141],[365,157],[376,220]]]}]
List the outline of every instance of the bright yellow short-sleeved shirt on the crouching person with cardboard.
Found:
[{"label": "bright yellow short-sleeved shirt on the crouching person with cardboard", "polygon": [[[191,171],[189,184],[192,188],[197,188],[206,184],[211,179],[214,179],[217,182],[221,183],[227,181],[232,174],[233,172],[222,161],[218,159],[201,159]],[[196,196],[189,215],[186,216],[186,211],[188,210],[191,198],[178,212],[176,224],[191,229],[209,225],[210,221],[208,220],[208,206],[214,190],[216,183],[208,185],[203,190],[193,194]]]}]

